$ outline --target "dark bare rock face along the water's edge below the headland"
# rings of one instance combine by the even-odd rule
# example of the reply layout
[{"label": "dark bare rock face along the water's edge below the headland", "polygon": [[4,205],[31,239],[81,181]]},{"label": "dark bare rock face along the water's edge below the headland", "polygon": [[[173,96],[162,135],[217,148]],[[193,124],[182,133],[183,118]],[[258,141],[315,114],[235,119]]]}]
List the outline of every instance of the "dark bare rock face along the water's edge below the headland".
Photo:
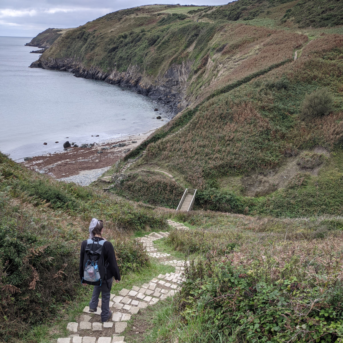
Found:
[{"label": "dark bare rock face along the water's edge below the headland", "polygon": [[78,78],[101,80],[130,88],[171,106],[171,111],[175,115],[189,104],[186,100],[186,89],[191,66],[190,61],[173,64],[163,75],[155,79],[145,76],[138,66],[130,66],[127,71],[123,72],[114,69],[106,73],[98,67],[87,69],[82,63],[71,58],[40,58],[33,62],[30,67],[69,71]]}]

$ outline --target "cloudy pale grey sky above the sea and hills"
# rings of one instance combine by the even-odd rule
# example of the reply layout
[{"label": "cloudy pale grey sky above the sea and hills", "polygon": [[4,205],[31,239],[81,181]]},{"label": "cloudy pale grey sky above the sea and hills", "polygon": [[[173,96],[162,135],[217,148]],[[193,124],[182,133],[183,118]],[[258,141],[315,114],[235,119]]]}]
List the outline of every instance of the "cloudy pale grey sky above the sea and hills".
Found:
[{"label": "cloudy pale grey sky above the sea and hills", "polygon": [[[1,0],[0,36],[35,37],[48,27],[77,27],[107,13],[141,5],[151,0]],[[171,0],[173,1],[173,0]],[[228,0],[189,0],[161,3],[222,5]]]}]

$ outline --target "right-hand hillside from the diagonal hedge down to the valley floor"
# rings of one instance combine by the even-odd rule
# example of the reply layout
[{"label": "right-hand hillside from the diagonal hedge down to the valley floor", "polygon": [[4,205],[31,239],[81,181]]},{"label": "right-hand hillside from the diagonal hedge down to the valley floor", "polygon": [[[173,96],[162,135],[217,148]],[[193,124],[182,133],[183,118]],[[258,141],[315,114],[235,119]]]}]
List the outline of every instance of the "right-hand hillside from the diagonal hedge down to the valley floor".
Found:
[{"label": "right-hand hillside from the diagonal hedge down to the valley floor", "polygon": [[[341,188],[335,187],[343,171],[342,42],[340,35],[323,35],[305,46],[303,58],[296,62],[214,92],[145,143],[146,155],[140,167],[145,161],[182,175],[185,186],[212,189],[208,197],[217,197],[217,202],[223,201],[219,193],[224,190],[245,196],[249,190],[245,178],[249,175],[251,179],[262,175],[268,181],[268,175],[285,168],[289,184],[281,188],[288,184],[286,189],[262,198],[241,197],[236,211],[243,213],[248,206],[250,213],[277,216],[342,214]],[[301,106],[306,94],[324,88],[334,96],[331,113],[304,119]],[[302,151],[316,146],[331,152],[329,162],[318,174],[308,174],[314,168],[300,166],[287,174],[287,164],[294,156],[300,158]],[[270,180],[260,194],[279,188],[270,185],[275,186]]]}]

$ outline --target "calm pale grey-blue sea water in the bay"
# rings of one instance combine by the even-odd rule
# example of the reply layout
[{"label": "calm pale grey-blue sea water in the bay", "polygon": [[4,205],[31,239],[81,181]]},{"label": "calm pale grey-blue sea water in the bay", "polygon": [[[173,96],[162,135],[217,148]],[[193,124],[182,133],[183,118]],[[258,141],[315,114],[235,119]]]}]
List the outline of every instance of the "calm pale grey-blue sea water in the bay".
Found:
[{"label": "calm pale grey-blue sea water in the bay", "polygon": [[28,68],[39,57],[24,46],[30,40],[0,37],[0,150],[12,159],[61,151],[66,140],[116,140],[166,123],[156,119],[150,98],[68,72]]}]

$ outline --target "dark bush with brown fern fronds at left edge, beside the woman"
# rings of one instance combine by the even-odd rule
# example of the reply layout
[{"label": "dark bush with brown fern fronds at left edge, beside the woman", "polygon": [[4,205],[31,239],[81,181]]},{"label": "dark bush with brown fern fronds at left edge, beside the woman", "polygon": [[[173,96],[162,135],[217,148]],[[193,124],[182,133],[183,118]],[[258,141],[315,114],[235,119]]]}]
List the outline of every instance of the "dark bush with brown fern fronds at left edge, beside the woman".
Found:
[{"label": "dark bush with brown fern fronds at left edge, beside the woman", "polygon": [[76,295],[75,243],[45,240],[31,216],[19,218],[5,215],[0,223],[0,336],[5,341],[56,315],[59,305]]}]

